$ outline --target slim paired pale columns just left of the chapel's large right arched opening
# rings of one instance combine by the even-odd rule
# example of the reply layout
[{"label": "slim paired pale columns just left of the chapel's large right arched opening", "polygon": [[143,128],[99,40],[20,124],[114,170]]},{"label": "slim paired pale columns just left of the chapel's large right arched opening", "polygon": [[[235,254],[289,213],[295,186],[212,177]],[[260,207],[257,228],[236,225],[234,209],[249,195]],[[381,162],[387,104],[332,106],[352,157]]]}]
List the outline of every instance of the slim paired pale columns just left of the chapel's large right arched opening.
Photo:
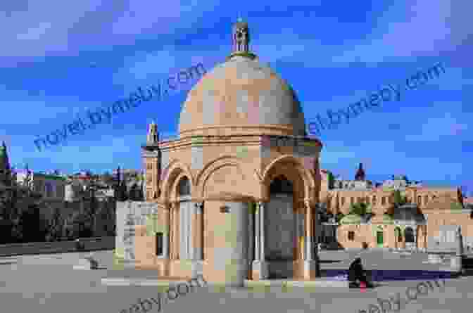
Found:
[{"label": "slim paired pale columns just left of the chapel's large right arched opening", "polygon": [[265,261],[265,206],[263,202],[258,202],[256,208],[255,233],[258,234],[255,240],[255,260],[252,265],[253,280],[260,281],[267,279],[269,275],[269,264]]}]

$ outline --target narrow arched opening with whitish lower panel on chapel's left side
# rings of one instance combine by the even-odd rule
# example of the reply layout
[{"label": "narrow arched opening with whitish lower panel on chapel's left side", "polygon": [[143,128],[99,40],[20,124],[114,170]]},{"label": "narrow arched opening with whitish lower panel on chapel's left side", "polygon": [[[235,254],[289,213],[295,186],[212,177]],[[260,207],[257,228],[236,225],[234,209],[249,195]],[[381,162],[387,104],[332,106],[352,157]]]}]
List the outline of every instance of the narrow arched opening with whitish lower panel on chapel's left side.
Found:
[{"label": "narrow arched opening with whitish lower panel on chapel's left side", "polygon": [[193,243],[192,240],[192,205],[191,198],[191,184],[187,177],[182,177],[177,184],[177,194],[179,196],[179,259],[192,259]]}]

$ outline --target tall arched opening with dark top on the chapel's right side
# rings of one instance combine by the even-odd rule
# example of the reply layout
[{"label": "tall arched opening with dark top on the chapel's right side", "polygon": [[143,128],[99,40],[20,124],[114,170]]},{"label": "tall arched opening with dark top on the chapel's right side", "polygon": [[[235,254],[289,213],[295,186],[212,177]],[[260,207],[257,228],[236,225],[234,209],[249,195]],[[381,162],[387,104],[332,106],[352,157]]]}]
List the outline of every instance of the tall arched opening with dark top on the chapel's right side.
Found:
[{"label": "tall arched opening with dark top on the chapel's right side", "polygon": [[266,260],[270,261],[270,278],[288,278],[294,260],[295,215],[293,212],[294,186],[284,175],[270,184],[270,202],[267,203],[265,224]]}]

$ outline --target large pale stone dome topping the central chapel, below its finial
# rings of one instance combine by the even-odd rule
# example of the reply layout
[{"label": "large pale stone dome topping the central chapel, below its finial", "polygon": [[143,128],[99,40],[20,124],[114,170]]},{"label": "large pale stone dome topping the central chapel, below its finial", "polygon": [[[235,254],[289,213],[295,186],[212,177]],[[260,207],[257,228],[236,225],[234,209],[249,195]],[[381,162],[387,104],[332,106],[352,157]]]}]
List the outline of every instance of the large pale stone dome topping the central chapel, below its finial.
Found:
[{"label": "large pale stone dome topping the central chapel, below its finial", "polygon": [[236,54],[189,91],[179,134],[305,136],[306,132],[301,103],[291,86],[256,56]]}]

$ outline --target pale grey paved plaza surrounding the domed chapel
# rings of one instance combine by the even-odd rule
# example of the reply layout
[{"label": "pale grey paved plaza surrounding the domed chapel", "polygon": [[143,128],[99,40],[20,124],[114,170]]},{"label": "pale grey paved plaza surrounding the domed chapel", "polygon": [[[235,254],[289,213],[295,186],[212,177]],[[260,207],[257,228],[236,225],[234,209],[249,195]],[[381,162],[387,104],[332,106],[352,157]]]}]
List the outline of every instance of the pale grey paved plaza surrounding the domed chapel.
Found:
[{"label": "pale grey paved plaza surrounding the domed chapel", "polygon": [[[355,255],[360,254],[367,270],[438,271],[439,266],[423,264],[427,255],[402,255],[381,251],[322,252],[322,270],[347,269]],[[28,255],[0,258],[0,312],[116,312],[127,309],[139,299],[156,298],[158,289],[152,286],[105,286],[101,279],[118,277],[147,277],[152,271],[132,269],[112,270],[112,252],[94,253],[99,260],[97,270],[74,270],[77,260],[89,253],[57,255]],[[426,279],[427,280],[427,279]],[[431,280],[431,279],[428,279]],[[359,312],[377,304],[377,298],[388,299],[396,293],[405,298],[406,288],[415,288],[422,280],[380,281],[372,290],[340,287],[290,290],[266,288],[226,288],[217,292],[211,287],[196,288],[194,293],[182,295],[163,304],[162,312]],[[444,288],[434,288],[427,295],[403,305],[399,312],[472,312],[473,277],[446,279]],[[142,311],[131,311],[142,312]],[[153,308],[149,312],[157,312]],[[374,310],[373,312],[378,312]]]}]

